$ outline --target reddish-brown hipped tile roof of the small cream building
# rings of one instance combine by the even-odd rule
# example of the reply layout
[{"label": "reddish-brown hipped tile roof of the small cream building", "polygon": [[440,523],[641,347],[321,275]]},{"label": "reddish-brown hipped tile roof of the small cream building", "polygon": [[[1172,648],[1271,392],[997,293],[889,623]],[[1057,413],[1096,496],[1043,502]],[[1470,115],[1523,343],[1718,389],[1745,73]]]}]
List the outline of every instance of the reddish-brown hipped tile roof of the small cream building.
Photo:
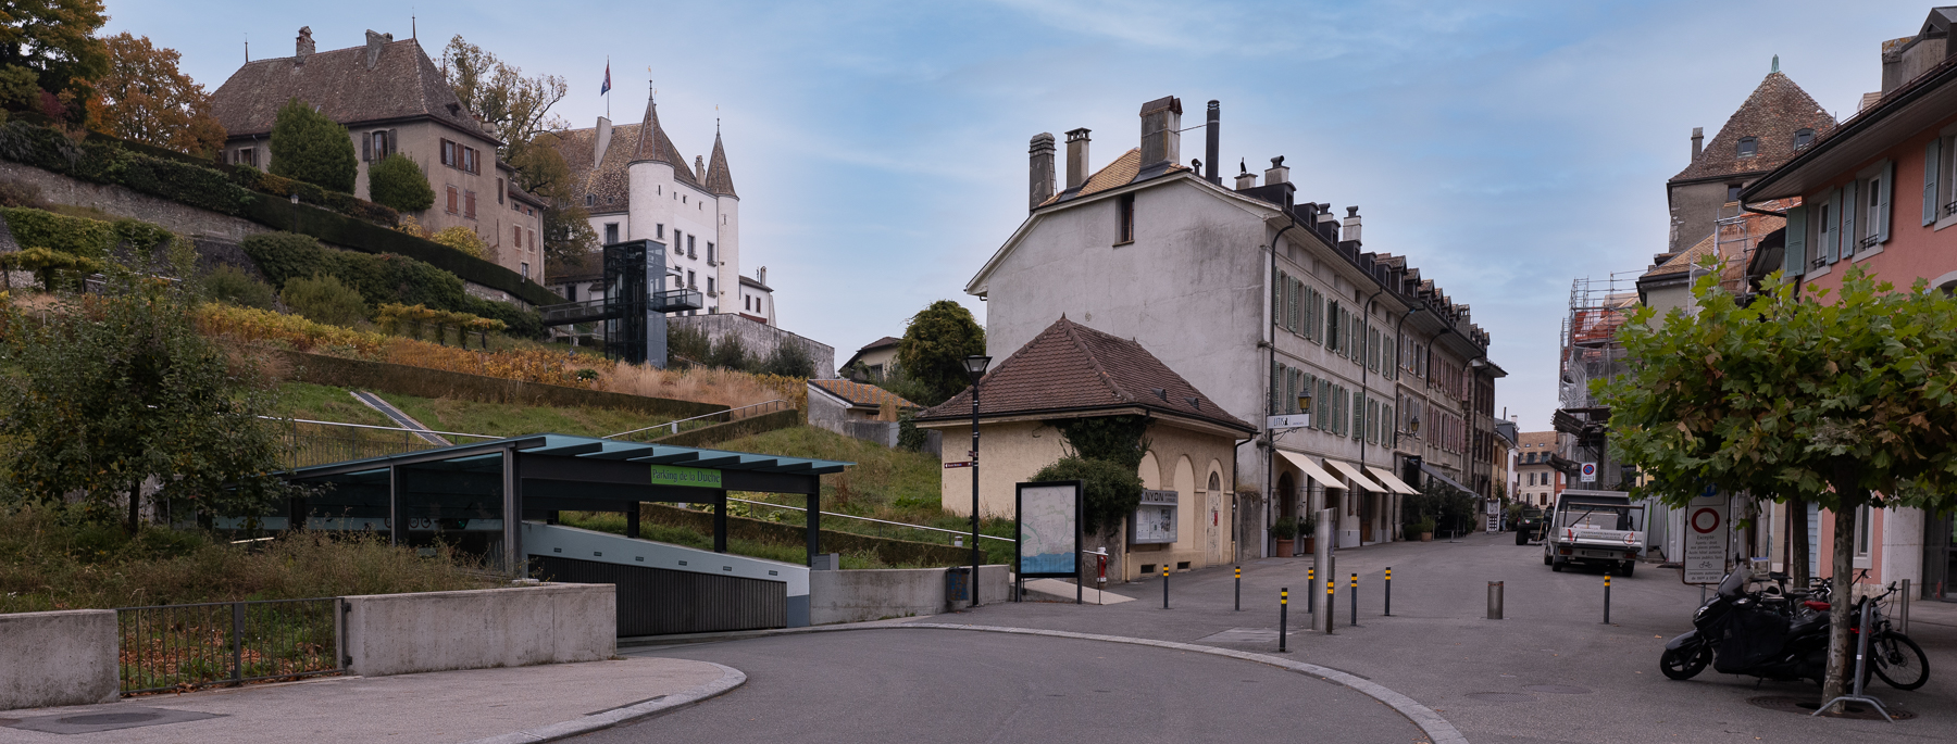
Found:
[{"label": "reddish-brown hipped tile roof of the small cream building", "polygon": [[[1141,344],[1076,324],[1067,316],[992,367],[980,385],[984,385],[984,394],[978,396],[980,416],[1145,408],[1256,432]],[[920,412],[918,420],[967,418],[973,410],[971,394],[967,387],[951,400]]]}]

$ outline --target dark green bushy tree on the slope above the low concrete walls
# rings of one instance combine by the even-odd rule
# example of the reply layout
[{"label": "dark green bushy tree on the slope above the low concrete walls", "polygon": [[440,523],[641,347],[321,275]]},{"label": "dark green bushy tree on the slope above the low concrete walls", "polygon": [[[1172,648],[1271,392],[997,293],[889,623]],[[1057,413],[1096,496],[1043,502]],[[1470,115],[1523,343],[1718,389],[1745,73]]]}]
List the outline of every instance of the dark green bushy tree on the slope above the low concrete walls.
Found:
[{"label": "dark green bushy tree on the slope above the low concrete walls", "polygon": [[[190,275],[194,250],[170,242],[170,269]],[[270,389],[225,355],[194,322],[198,291],[112,262],[106,287],[63,293],[47,314],[4,309],[0,439],[6,478],[23,494],[84,492],[94,508],[125,510],[141,525],[143,486],[160,508],[260,516],[286,486],[278,439],[260,414]],[[110,512],[114,514],[114,512]]]}]

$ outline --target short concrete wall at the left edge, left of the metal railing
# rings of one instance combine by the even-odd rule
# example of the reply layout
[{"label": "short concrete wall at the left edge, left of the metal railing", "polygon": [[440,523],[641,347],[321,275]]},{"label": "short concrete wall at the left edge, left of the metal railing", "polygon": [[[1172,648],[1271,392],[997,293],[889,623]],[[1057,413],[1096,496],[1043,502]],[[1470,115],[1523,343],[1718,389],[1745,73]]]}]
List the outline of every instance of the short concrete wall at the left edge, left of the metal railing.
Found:
[{"label": "short concrete wall at the left edge, left of the metal railing", "polygon": [[0,711],[117,695],[114,609],[0,615]]}]

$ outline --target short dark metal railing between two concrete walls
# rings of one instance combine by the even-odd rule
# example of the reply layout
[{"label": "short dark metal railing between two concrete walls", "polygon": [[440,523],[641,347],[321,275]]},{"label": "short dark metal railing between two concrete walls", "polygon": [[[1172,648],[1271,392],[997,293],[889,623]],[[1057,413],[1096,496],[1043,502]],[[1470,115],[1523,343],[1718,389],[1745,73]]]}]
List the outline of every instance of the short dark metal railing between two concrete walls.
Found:
[{"label": "short dark metal railing between two concrete walls", "polygon": [[344,605],[319,598],[119,607],[121,693],[342,672]]}]

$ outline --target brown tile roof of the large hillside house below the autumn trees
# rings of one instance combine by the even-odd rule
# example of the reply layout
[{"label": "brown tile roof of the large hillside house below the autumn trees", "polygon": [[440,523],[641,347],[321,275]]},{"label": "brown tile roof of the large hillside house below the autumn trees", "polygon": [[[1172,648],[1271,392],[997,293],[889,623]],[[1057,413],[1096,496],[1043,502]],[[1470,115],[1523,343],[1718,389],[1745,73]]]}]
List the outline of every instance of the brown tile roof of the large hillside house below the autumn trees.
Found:
[{"label": "brown tile roof of the large hillside house below the autumn trees", "polygon": [[[386,39],[386,37],[384,37]],[[301,100],[339,123],[431,117],[495,141],[429,61],[415,39],[386,41],[374,66],[368,47],[245,62],[217,92],[211,113],[231,137],[266,135],[278,107]]]}]

